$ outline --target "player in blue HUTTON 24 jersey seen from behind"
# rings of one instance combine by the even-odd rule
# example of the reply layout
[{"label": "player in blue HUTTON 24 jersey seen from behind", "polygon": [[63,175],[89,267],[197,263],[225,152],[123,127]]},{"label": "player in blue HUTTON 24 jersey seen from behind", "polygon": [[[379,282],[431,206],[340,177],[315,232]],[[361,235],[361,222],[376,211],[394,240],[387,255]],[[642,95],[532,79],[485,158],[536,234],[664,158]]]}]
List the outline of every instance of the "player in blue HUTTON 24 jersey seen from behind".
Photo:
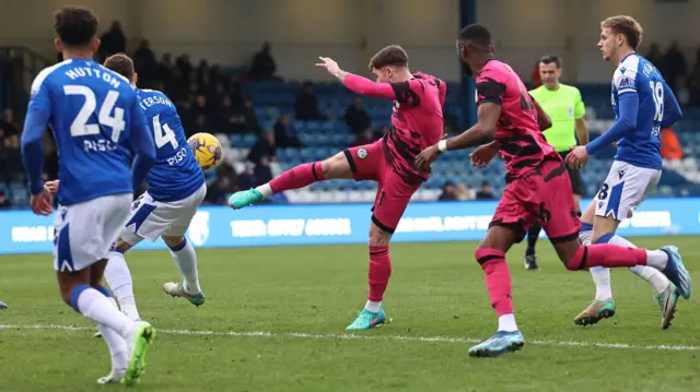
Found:
[{"label": "player in blue HUTTON 24 jersey seen from behind", "polygon": [[52,194],[42,181],[43,135],[50,124],[61,181],[54,238],[60,295],[97,323],[109,347],[112,372],[97,382],[124,379],[133,385],[143,373],[155,330],[117,309],[102,275],[109,248],[128,218],[133,190],[153,165],[155,147],[129,82],[92,60],[100,47],[96,16],[85,9],[63,8],[54,19],[56,48],[65,61],[43,70],[32,83],[22,133],[30,202],[37,215],[52,213]]}]

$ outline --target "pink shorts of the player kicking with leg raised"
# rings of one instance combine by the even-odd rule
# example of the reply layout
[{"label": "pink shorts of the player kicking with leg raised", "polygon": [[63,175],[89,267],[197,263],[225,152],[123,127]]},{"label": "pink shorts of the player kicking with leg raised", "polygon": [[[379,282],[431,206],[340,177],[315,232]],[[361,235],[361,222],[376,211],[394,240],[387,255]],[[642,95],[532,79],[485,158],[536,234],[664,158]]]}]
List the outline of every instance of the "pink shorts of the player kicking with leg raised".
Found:
[{"label": "pink shorts of the player kicking with leg raised", "polygon": [[372,180],[378,183],[380,188],[372,207],[372,222],[382,230],[394,234],[408,202],[420,188],[420,183],[406,183],[394,171],[384,157],[384,145],[381,140],[348,149],[343,153],[350,163],[352,177],[357,181]]}]

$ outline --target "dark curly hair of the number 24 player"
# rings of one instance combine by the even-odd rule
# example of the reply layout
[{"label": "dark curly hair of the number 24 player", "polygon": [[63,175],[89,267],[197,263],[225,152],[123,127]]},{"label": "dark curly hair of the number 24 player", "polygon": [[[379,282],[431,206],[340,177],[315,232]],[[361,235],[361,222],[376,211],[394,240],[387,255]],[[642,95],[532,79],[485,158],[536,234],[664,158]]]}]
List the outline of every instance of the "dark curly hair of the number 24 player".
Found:
[{"label": "dark curly hair of the number 24 player", "polygon": [[84,8],[65,7],[54,13],[54,28],[67,46],[86,46],[97,34],[97,16]]}]

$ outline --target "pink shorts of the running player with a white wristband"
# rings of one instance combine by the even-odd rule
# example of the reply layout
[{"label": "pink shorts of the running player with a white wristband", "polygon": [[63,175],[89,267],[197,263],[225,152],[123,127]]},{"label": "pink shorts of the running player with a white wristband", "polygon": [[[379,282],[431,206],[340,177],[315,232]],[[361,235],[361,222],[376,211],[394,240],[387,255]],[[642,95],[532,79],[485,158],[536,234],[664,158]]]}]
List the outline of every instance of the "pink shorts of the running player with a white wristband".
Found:
[{"label": "pink shorts of the running player with a white wristband", "polygon": [[510,182],[490,226],[512,228],[520,242],[535,222],[551,242],[579,238],[581,219],[573,205],[567,167],[559,159],[546,161],[535,173]]}]

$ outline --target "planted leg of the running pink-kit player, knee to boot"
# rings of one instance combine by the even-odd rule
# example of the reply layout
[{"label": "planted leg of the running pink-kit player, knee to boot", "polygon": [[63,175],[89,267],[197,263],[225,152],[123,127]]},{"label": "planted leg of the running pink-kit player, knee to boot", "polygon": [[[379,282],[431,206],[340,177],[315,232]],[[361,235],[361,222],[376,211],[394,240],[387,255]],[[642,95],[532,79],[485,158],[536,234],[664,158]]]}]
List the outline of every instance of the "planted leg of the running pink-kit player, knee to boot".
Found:
[{"label": "planted leg of the running pink-kit player, knee to boot", "polygon": [[472,357],[497,357],[525,345],[525,338],[515,323],[511,274],[505,261],[505,253],[516,240],[517,234],[510,227],[491,226],[475,252],[477,262],[486,273],[486,287],[499,318],[499,328],[489,340],[469,348]]}]

